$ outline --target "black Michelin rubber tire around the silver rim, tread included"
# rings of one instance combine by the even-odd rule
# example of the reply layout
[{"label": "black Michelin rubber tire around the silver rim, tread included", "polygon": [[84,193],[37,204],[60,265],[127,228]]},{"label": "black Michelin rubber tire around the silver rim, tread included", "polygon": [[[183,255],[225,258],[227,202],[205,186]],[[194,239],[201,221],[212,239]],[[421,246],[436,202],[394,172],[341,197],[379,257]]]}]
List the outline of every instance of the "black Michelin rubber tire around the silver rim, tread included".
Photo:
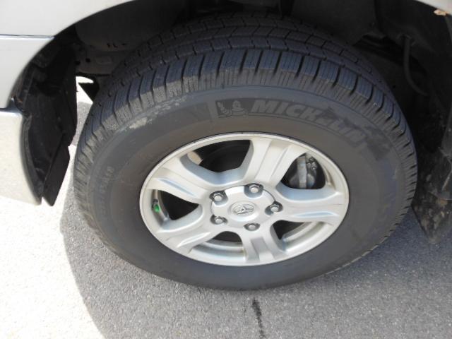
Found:
[{"label": "black Michelin rubber tire around the silver rim, tread included", "polygon": [[[218,108],[233,100],[242,114]],[[256,100],[276,104],[253,112]],[[331,237],[287,261],[233,267],[186,258],[150,234],[138,207],[150,170],[186,143],[237,131],[298,139],[340,167],[350,206]],[[403,219],[416,178],[405,118],[359,53],[295,20],[240,13],[174,28],[131,54],[96,97],[74,186],[88,224],[122,258],[184,283],[249,289],[311,278],[369,253]]]}]

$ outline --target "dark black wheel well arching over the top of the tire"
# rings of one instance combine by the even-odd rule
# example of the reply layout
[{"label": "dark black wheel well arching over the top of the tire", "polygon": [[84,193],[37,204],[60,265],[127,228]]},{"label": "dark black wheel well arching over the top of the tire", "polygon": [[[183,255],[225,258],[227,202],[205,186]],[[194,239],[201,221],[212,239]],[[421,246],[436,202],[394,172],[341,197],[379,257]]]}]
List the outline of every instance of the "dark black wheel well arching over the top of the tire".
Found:
[{"label": "dark black wheel well arching over the top of the tire", "polygon": [[[59,33],[55,39],[59,48],[71,52],[58,62],[73,63],[69,76],[92,79],[95,85],[88,94],[95,97],[109,74],[139,44],[178,23],[232,11],[266,11],[301,19],[352,44],[393,90],[417,147],[427,153],[440,148],[444,131],[452,124],[451,18],[435,15],[434,8],[415,0],[134,0],[95,13]],[[32,64],[36,65],[52,46]],[[47,76],[52,78],[52,74]],[[16,97],[26,90],[21,82]],[[68,119],[58,121],[60,125],[72,124]],[[65,129],[70,131],[66,136],[73,134],[71,126],[61,126],[61,131]]]}]

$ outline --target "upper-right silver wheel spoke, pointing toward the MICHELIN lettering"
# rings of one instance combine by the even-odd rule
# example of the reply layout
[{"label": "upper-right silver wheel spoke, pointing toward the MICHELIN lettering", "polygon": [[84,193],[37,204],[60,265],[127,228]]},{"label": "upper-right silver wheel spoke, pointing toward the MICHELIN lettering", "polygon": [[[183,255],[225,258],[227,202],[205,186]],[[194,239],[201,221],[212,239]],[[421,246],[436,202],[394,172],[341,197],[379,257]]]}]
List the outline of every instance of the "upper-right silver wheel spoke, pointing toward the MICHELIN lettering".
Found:
[{"label": "upper-right silver wheel spoke, pointing toward the MICHELIN lettering", "polygon": [[287,141],[251,138],[248,153],[240,167],[244,180],[275,186],[283,179],[292,162],[306,151],[302,146]]}]

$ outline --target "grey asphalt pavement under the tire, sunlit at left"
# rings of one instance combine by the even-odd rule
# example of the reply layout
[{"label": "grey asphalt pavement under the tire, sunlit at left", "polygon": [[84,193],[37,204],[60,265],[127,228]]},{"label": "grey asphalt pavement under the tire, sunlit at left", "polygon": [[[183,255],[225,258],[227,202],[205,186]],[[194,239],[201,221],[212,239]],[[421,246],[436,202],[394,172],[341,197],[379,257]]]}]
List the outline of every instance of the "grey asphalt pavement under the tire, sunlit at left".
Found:
[{"label": "grey asphalt pavement under the tire, sunlit at left", "polygon": [[[89,101],[79,100],[83,121]],[[71,171],[52,208],[0,206],[0,338],[452,338],[452,236],[428,244],[412,212],[343,270],[230,292],[112,254],[78,211]]]}]

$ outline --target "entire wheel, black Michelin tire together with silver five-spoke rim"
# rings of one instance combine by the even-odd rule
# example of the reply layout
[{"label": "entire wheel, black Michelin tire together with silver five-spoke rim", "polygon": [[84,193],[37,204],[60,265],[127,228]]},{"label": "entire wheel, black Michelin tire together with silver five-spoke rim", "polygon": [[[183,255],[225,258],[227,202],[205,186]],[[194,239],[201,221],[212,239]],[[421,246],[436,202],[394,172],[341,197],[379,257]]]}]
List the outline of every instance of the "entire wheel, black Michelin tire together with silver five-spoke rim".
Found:
[{"label": "entire wheel, black Michelin tire together with silver five-spoke rim", "polygon": [[114,72],[83,129],[74,186],[122,258],[249,289],[369,253],[408,210],[416,170],[403,114],[354,49],[241,14],[175,28]]}]

